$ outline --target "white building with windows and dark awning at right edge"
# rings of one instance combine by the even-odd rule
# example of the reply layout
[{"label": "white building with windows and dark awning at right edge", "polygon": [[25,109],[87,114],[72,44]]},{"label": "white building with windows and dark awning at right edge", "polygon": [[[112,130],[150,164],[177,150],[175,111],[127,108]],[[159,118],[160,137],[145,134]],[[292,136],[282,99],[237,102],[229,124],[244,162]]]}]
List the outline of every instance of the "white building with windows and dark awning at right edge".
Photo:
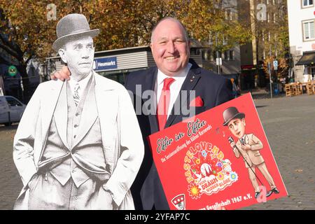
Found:
[{"label": "white building with windows and dark awning at right edge", "polygon": [[315,80],[314,0],[288,0],[290,53],[295,81]]}]

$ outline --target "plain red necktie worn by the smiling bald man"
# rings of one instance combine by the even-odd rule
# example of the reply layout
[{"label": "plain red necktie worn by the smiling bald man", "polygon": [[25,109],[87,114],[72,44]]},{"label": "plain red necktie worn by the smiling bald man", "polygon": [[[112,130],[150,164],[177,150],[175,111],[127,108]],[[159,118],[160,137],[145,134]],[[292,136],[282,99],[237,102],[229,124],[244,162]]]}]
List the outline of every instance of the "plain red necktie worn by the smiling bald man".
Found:
[{"label": "plain red necktie worn by the smiling bald man", "polygon": [[167,122],[167,111],[169,110],[169,99],[171,92],[169,92],[169,86],[174,82],[174,78],[165,78],[161,96],[158,103],[158,123],[159,130],[163,130]]}]

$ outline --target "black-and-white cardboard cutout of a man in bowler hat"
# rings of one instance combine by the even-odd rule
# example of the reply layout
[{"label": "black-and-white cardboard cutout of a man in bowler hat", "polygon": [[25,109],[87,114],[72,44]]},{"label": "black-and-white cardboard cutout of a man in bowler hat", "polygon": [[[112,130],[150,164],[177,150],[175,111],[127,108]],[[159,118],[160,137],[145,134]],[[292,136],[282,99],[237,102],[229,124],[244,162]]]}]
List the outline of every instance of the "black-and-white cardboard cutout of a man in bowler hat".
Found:
[{"label": "black-and-white cardboard cutout of a man in bowler hat", "polygon": [[130,186],[144,144],[123,85],[92,70],[93,37],[84,15],[57,24],[71,80],[38,85],[14,138],[23,188],[14,209],[134,209]]}]

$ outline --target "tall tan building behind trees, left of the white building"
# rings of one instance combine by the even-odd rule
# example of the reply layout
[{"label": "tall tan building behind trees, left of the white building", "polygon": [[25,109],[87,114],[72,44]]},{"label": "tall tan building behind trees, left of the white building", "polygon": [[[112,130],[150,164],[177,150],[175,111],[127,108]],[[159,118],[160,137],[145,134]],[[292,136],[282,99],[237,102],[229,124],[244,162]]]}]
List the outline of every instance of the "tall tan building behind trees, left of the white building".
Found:
[{"label": "tall tan building behind trees, left of the white building", "polygon": [[267,57],[278,57],[276,27],[286,13],[281,0],[239,0],[239,22],[251,29],[251,41],[240,46],[241,84],[245,89],[268,87],[263,66]]}]

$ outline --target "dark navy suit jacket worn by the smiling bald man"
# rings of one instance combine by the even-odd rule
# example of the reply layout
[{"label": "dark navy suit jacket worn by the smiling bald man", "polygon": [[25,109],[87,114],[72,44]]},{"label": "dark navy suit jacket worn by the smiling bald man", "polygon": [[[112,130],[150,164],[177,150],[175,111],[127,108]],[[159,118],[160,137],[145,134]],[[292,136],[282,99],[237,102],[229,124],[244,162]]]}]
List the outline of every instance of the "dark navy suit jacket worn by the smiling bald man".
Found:
[{"label": "dark navy suit jacket worn by the smiling bald man", "polygon": [[[200,68],[193,59],[190,59],[190,63],[193,64],[193,66],[190,68],[188,76],[181,87],[181,91],[188,90],[188,97],[180,97],[181,94],[179,94],[179,97],[176,99],[176,102],[180,102],[182,108],[186,107],[186,110],[190,109],[189,90],[195,90],[195,97],[200,96],[204,102],[204,106],[195,108],[196,114],[207,111],[214,106],[218,106],[219,104],[228,102],[232,99],[232,83],[228,78],[224,78],[214,72]],[[127,90],[132,91],[135,109],[137,104],[139,107],[139,102],[141,102],[142,106],[149,100],[144,99],[142,93],[146,90],[154,90],[157,74],[158,68],[155,66],[146,70],[132,72],[128,76],[125,87]],[[136,85],[138,85],[138,87],[136,87]],[[139,87],[141,87],[141,91],[139,90]],[[154,101],[156,102],[156,99],[154,99]],[[171,115],[167,119],[165,128],[181,122],[182,118],[188,118],[187,115],[183,115],[183,111],[180,111],[180,114],[178,112],[179,111],[176,113],[177,115],[174,115],[173,108]],[[158,120],[155,114],[146,115],[143,110],[141,113],[137,113],[137,118],[146,151],[140,171],[131,188],[135,208],[169,209],[158,172],[153,162],[151,148],[148,146],[147,141],[148,135],[159,131]]]}]

